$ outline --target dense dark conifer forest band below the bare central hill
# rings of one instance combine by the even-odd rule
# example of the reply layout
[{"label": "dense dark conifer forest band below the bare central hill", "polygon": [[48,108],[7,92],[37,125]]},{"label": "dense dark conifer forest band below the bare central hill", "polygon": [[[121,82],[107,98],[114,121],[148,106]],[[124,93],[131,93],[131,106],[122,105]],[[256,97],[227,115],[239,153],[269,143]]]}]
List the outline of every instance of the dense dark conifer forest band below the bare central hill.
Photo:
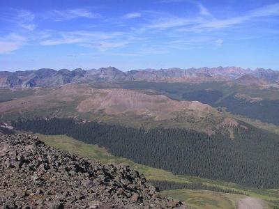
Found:
[{"label": "dense dark conifer forest band below the bare central hill", "polygon": [[98,144],[113,155],[176,174],[226,180],[253,187],[279,186],[277,134],[243,123],[229,132],[209,136],[179,128],[135,129],[102,123],[77,123],[52,118],[13,123],[17,130],[66,134],[87,144]]}]

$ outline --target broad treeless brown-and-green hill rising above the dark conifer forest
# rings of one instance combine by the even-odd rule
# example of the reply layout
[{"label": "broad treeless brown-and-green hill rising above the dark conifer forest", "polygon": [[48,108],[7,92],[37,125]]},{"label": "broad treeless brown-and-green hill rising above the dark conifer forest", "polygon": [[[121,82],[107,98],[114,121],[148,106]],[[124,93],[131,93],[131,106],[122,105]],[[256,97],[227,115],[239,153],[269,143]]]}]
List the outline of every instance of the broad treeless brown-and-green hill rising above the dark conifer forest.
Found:
[{"label": "broad treeless brown-and-green hill rising above the dark conifer forest", "polygon": [[213,133],[225,117],[208,104],[176,101],[153,91],[98,89],[82,84],[36,88],[24,98],[0,103],[1,121],[75,117],[132,127],[180,126]]}]

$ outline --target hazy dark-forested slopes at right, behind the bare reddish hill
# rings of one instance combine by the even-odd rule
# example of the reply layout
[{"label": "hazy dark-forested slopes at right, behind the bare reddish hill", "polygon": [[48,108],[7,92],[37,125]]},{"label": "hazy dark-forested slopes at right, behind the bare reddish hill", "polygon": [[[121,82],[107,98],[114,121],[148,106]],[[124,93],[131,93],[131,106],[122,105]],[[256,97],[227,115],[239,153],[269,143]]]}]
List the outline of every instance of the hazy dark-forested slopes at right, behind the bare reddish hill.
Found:
[{"label": "hazy dark-forested slopes at right, behind the bare reddish hill", "polygon": [[[232,85],[228,85],[228,82],[204,82],[200,84],[119,82],[117,88],[137,91],[149,90],[174,100],[199,101],[216,107],[219,111],[226,110],[231,114],[278,125],[279,112],[276,109],[279,101],[279,89],[266,85],[254,85],[257,84],[257,81],[258,79],[255,79],[256,83],[243,82],[243,84],[230,82]],[[232,117],[234,116],[232,115]]]}]

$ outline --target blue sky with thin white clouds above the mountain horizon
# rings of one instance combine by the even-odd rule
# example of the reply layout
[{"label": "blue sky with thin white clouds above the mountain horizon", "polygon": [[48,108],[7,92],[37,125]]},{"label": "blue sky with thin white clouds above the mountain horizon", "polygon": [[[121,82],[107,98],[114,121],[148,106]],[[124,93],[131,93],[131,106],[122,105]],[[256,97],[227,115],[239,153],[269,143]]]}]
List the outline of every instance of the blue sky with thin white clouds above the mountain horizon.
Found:
[{"label": "blue sky with thin white clouds above the mountain horizon", "polygon": [[279,1],[0,1],[0,70],[279,70]]}]

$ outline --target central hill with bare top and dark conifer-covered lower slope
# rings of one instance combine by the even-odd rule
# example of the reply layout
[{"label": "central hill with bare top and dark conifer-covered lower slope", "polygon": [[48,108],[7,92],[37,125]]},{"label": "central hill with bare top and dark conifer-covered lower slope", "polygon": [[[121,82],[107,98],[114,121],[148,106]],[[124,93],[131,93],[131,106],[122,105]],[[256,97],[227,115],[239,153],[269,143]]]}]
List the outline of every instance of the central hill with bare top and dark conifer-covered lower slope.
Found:
[{"label": "central hill with bare top and dark conifer-covered lower slope", "polygon": [[[184,86],[189,93],[183,97],[195,98],[195,93],[191,94],[195,87]],[[214,89],[197,92],[197,100],[203,98],[202,102],[213,99],[215,103],[224,95]],[[1,122],[13,122],[17,129],[68,134],[105,146],[114,155],[177,174],[255,187],[278,185],[274,178],[278,172],[278,135],[225,116],[208,104],[172,100],[148,89],[99,89],[82,84],[34,88],[24,97],[14,95],[0,103],[0,116]],[[237,94],[236,99],[251,105],[264,102],[244,94]],[[142,150],[146,152],[143,156]],[[265,171],[269,174],[263,175]]]}]

